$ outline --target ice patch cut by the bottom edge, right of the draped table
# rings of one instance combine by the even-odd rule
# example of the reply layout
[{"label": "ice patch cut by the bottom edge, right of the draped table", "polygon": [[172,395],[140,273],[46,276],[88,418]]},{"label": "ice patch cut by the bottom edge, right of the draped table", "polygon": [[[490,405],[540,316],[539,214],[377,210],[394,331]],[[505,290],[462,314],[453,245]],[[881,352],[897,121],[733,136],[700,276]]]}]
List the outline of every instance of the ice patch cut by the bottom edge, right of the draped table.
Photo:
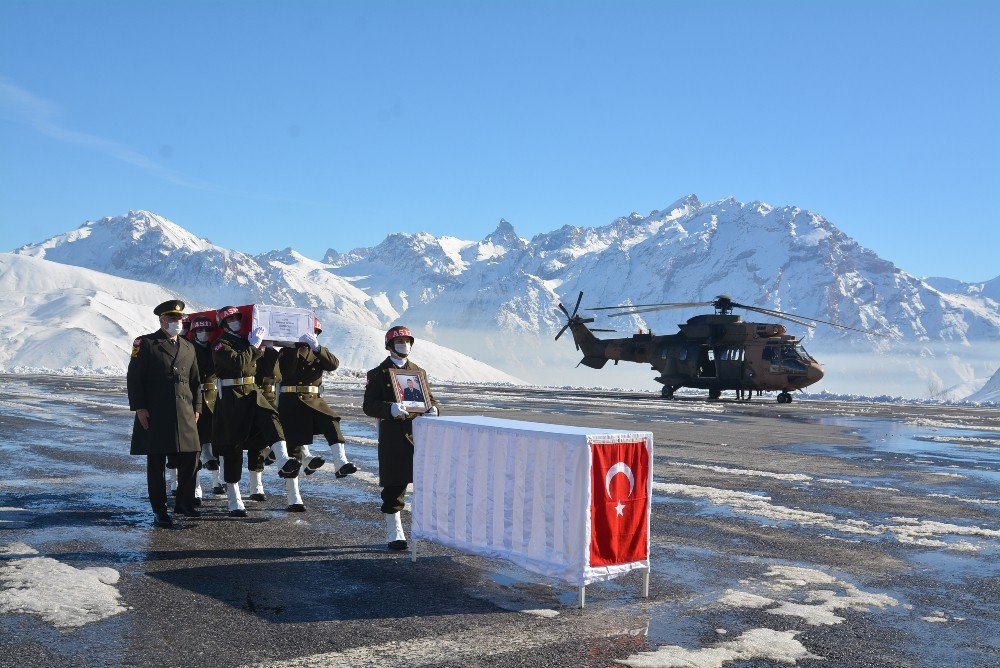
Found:
[{"label": "ice patch cut by the bottom edge, right of the draped table", "polygon": [[729,661],[766,660],[795,664],[800,659],[822,659],[795,639],[800,631],[752,629],[715,647],[687,649],[664,645],[616,661],[632,668],[721,668]]}]

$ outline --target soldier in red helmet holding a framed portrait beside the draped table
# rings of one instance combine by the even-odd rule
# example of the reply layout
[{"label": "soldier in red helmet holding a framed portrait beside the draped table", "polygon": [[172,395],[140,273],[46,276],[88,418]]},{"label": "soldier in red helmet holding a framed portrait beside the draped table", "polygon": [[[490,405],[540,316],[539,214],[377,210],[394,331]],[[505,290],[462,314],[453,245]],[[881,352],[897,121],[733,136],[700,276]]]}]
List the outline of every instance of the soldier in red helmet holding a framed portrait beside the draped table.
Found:
[{"label": "soldier in red helmet holding a framed portrait beside the draped table", "polygon": [[[413,340],[413,333],[406,327],[393,327],[385,333],[389,356],[368,372],[362,404],[365,415],[378,418],[378,477],[390,550],[406,549],[406,534],[399,511],[405,505],[406,486],[413,482],[413,424],[410,420],[415,415],[408,413],[396,399],[389,370],[422,371],[407,359]],[[431,389],[425,389],[431,404],[426,415],[437,415],[439,404]]]}]

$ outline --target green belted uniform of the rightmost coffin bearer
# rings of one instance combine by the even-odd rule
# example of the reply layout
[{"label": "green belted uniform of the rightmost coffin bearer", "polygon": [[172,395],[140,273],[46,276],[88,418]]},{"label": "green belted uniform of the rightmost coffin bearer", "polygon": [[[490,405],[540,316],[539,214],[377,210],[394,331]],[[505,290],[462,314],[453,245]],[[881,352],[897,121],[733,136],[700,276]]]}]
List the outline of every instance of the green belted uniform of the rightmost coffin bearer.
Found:
[{"label": "green belted uniform of the rightmost coffin bearer", "polygon": [[[278,365],[282,377],[278,413],[289,449],[311,444],[315,434],[323,434],[330,445],[344,443],[340,416],[318,392],[310,391],[323,386],[323,373],[336,371],[340,360],[325,346],[314,353],[303,345],[283,348]],[[302,391],[292,391],[295,388]]]}]

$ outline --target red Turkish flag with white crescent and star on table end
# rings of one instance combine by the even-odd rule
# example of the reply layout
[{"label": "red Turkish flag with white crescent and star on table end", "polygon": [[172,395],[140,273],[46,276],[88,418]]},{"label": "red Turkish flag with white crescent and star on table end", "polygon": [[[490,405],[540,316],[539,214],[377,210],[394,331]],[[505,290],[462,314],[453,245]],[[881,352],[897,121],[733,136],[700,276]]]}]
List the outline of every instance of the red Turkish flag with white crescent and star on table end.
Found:
[{"label": "red Turkish flag with white crescent and star on table end", "polygon": [[590,565],[649,558],[649,450],[645,441],[591,446]]}]

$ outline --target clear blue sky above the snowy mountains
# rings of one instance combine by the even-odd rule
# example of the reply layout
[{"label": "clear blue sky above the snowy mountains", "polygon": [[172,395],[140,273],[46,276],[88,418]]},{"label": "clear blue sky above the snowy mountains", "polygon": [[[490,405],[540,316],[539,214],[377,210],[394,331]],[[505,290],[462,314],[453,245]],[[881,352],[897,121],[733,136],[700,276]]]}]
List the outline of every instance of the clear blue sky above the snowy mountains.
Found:
[{"label": "clear blue sky above the snowy mountains", "polygon": [[688,193],[1000,274],[998,2],[0,3],[0,249],[530,237]]}]

